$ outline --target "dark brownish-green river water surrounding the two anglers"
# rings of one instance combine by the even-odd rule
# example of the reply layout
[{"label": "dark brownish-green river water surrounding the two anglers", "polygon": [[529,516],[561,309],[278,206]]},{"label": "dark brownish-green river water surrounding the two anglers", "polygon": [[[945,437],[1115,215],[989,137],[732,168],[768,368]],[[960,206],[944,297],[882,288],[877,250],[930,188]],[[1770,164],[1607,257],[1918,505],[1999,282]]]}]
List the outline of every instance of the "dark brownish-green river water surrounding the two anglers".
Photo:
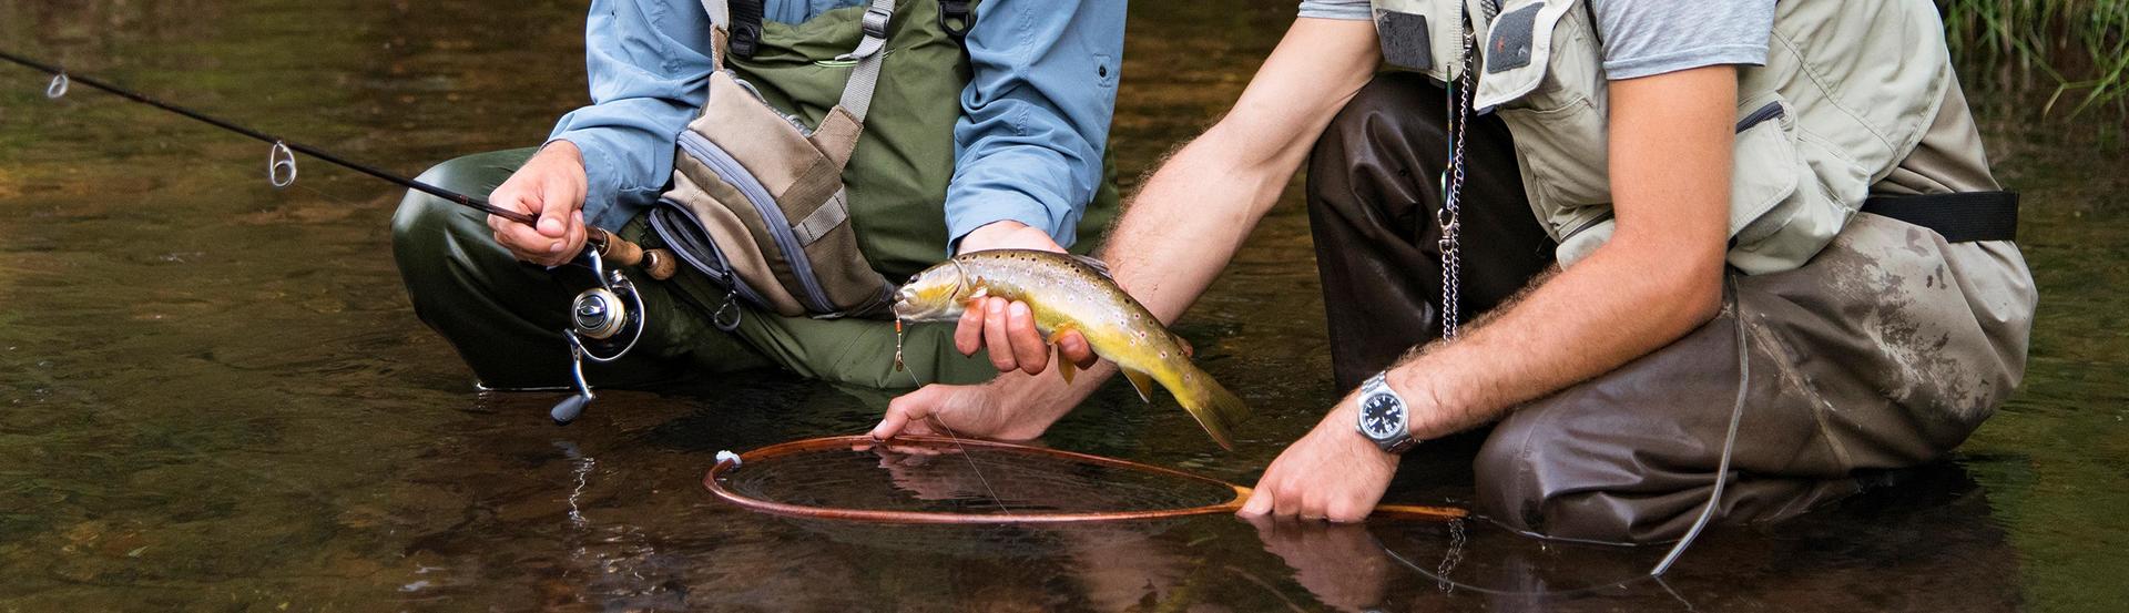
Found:
[{"label": "dark brownish-green river water surrounding the two anglers", "polygon": [[[1207,126],[1290,2],[1137,2],[1126,175]],[[0,47],[415,172],[583,100],[581,2],[0,2]],[[1663,551],[1488,524],[1073,530],[801,524],[700,487],[717,449],[860,432],[877,394],[790,377],[481,396],[392,270],[398,192],[0,66],[0,611],[2110,611],[2129,602],[2123,121],[1976,83],[2042,287],[2025,392],[1959,458],[1790,526]],[[2044,94],[2044,92],[2040,92]],[[1299,183],[1297,183],[1299,185]],[[1047,445],[1250,483],[1337,398],[1290,192],[1182,326],[1265,413],[1220,453],[1111,387]],[[1450,445],[1452,447],[1452,445]],[[1463,502],[1456,449],[1401,502]],[[1437,581],[1441,573],[1463,587]],[[1488,592],[1490,590],[1490,592]],[[1520,594],[1495,594],[1520,592]],[[1539,594],[1531,594],[1539,592]]]}]

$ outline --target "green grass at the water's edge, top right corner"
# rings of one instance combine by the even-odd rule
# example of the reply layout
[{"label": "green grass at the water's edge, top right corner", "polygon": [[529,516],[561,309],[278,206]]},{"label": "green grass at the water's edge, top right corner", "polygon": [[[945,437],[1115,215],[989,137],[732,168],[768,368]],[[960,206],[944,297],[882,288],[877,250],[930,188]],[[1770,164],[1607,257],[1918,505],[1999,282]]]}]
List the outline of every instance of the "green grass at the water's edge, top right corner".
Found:
[{"label": "green grass at the water's edge, top right corner", "polygon": [[[2129,0],[1937,0],[1952,55],[1999,74],[2042,77],[2042,113],[2129,102]],[[2050,87],[2050,85],[2042,85]]]}]

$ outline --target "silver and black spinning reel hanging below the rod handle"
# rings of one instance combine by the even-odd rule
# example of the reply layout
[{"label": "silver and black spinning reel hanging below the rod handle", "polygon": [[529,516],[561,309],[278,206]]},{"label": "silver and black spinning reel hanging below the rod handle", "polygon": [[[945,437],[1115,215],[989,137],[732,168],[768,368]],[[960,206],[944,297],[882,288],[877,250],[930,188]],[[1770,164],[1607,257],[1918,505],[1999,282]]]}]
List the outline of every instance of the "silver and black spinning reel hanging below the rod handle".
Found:
[{"label": "silver and black spinning reel hanging below the rod handle", "polygon": [[607,270],[607,260],[598,255],[598,249],[583,249],[581,260],[592,268],[598,287],[579,292],[568,306],[571,328],[562,330],[562,338],[568,341],[568,366],[577,396],[562,398],[554,411],[547,411],[556,426],[577,421],[583,407],[598,398],[592,394],[592,383],[583,379],[583,360],[598,364],[622,360],[643,338],[643,294],[637,294],[637,285],[620,268]]}]

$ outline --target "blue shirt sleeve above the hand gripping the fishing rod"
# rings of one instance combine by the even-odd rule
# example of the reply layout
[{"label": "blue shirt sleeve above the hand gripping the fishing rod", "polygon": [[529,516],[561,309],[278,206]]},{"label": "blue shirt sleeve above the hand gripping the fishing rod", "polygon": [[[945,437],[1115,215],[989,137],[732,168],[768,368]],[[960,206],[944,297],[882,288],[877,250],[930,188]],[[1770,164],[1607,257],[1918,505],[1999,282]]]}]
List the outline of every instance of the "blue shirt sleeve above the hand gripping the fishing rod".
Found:
[{"label": "blue shirt sleeve above the hand gripping the fishing rod", "polygon": [[709,15],[694,2],[594,0],[585,19],[592,106],[554,126],[547,140],[583,149],[583,217],[617,230],[664,192],[673,140],[707,96]]}]

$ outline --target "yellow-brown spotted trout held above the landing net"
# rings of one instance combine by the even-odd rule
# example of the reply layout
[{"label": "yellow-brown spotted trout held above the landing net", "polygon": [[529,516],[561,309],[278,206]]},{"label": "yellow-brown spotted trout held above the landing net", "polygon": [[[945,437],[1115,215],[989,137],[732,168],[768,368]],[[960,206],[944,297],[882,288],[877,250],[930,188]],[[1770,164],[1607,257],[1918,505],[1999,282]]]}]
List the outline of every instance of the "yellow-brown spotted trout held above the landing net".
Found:
[{"label": "yellow-brown spotted trout held above the landing net", "polygon": [[[1235,449],[1228,432],[1250,417],[1250,407],[1190,364],[1184,341],[1116,287],[1101,260],[1028,249],[962,253],[909,277],[894,294],[894,317],[954,321],[971,300],[986,296],[1026,302],[1035,313],[1035,330],[1050,343],[1064,332],[1079,332],[1094,355],[1124,370],[1139,398],[1152,402],[1152,385],[1158,381],[1214,443]],[[1056,368],[1069,383],[1073,364],[1056,360]]]}]

